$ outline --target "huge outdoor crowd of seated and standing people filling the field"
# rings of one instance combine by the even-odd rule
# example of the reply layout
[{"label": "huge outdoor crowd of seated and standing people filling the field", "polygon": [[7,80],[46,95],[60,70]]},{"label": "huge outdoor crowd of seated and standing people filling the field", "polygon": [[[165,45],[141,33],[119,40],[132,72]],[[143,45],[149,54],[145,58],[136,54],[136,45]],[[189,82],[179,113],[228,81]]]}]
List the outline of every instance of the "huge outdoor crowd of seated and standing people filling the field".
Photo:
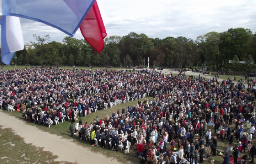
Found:
[{"label": "huge outdoor crowd of seated and standing people filling the field", "polygon": [[[207,156],[205,147],[210,147],[212,156],[219,154],[218,138],[229,142],[222,151],[224,163],[233,157],[237,164],[242,150],[254,162],[254,85],[252,81],[245,89],[242,81],[235,84],[232,80],[219,82],[217,77],[186,76],[182,70],[177,76],[150,70],[47,67],[0,73],[5,109],[8,105],[19,109],[23,104],[25,118],[43,125],[56,117],[70,118],[71,136],[75,122],[75,132],[92,146],[118,151],[121,145],[127,153],[129,144],[135,144],[141,162],[153,164],[202,163]],[[145,94],[152,98],[142,98]],[[85,116],[117,100],[135,99],[137,105],[97,117],[90,124],[75,121],[76,114]],[[214,132],[209,128],[212,125]]]}]

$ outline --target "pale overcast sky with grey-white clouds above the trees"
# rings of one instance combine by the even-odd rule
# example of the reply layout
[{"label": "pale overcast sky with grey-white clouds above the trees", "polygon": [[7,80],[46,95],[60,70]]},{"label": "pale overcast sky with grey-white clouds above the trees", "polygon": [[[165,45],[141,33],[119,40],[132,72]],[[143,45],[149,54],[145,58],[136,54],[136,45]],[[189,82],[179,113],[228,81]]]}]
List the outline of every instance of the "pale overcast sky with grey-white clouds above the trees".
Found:
[{"label": "pale overcast sky with grey-white clouds above the trees", "polygon": [[[151,38],[185,36],[195,40],[207,32],[243,27],[256,32],[256,0],[97,0],[107,35],[144,33]],[[21,18],[24,43],[32,34],[62,42],[63,32]],[[75,38],[82,39],[78,30]]]}]

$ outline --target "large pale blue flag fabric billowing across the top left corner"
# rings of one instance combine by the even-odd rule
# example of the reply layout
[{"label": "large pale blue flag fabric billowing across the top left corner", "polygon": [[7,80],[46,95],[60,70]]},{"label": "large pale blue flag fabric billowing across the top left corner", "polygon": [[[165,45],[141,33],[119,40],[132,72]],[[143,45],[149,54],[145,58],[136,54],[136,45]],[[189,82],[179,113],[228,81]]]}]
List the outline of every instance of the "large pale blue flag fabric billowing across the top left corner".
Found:
[{"label": "large pale blue flag fabric billowing across the top left corner", "polygon": [[74,36],[95,0],[2,0],[2,14],[27,18]]}]

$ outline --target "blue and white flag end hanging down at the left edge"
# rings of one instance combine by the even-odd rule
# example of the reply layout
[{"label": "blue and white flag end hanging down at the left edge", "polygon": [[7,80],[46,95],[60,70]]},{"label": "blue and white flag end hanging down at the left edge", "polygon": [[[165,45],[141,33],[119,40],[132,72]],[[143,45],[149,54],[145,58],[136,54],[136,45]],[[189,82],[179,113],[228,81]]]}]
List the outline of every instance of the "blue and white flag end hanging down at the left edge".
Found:
[{"label": "blue and white flag end hanging down at the left edge", "polygon": [[20,18],[16,16],[2,16],[1,18],[1,59],[9,65],[14,53],[24,49],[23,34]]}]

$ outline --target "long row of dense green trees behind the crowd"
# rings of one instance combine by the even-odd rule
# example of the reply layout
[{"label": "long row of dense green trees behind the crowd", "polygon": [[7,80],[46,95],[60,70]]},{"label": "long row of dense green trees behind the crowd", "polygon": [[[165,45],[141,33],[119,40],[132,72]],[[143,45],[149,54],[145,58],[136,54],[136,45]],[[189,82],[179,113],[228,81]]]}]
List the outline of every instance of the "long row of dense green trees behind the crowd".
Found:
[{"label": "long row of dense green trees behind the crowd", "polygon": [[[33,34],[35,49],[16,52],[18,65],[62,66],[150,66],[168,68],[210,67],[215,71],[246,69],[237,61],[246,61],[248,72],[256,60],[256,33],[250,29],[230,28],[225,32],[208,32],[190,38],[168,36],[150,38],[146,34],[130,32],[125,36],[109,36],[99,54],[84,39],[66,36],[62,43],[49,41],[49,35]],[[229,64],[229,60],[234,60]],[[15,62],[15,61],[13,61]],[[238,65],[234,65],[234,63]]]}]

